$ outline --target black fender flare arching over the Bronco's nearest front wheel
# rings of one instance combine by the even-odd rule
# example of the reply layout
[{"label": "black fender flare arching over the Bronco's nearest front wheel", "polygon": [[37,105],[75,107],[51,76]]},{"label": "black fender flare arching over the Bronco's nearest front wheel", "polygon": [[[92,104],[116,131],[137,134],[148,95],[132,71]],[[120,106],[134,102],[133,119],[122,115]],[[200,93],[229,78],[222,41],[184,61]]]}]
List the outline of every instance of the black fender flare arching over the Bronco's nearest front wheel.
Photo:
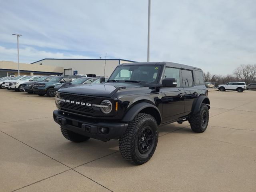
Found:
[{"label": "black fender flare arching over the Bronco's nearest front wheel", "polygon": [[160,120],[159,119],[156,119],[157,123],[160,124],[160,122],[162,121],[162,115],[159,111],[159,109],[154,106],[153,104],[150,104],[150,103],[147,103],[147,102],[140,102],[140,103],[137,103],[135,104],[134,106],[132,106],[128,112],[126,112],[126,114],[124,115],[124,117],[122,118],[122,122],[129,122],[129,121],[132,121],[134,119],[134,117],[143,109],[145,108],[154,108],[157,112],[158,112],[158,115],[160,117]]}]

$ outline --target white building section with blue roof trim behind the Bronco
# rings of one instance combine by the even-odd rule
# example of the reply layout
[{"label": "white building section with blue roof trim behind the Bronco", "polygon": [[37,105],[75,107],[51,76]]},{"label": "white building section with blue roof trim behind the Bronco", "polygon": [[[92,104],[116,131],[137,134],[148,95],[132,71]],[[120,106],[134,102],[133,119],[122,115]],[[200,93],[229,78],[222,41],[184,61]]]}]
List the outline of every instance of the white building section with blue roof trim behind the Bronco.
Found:
[{"label": "white building section with blue roof trim behind the Bronco", "polygon": [[[42,66],[58,66],[63,68],[64,75],[73,74],[96,74],[103,76],[105,70],[105,77],[109,77],[113,70],[122,63],[135,62],[124,59],[42,59],[32,64]],[[106,63],[106,67],[105,67]]]}]

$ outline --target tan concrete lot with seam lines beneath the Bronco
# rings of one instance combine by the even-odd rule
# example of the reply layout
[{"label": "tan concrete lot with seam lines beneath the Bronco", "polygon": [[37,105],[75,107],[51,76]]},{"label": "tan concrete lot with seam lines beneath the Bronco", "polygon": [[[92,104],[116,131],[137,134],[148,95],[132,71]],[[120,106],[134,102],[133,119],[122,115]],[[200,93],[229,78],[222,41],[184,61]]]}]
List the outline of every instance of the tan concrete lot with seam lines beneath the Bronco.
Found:
[{"label": "tan concrete lot with seam lines beneath the Bronco", "polygon": [[159,128],[154,156],[126,162],[118,141],[66,140],[54,98],[0,90],[0,191],[256,191],[256,92],[209,92],[210,122]]}]

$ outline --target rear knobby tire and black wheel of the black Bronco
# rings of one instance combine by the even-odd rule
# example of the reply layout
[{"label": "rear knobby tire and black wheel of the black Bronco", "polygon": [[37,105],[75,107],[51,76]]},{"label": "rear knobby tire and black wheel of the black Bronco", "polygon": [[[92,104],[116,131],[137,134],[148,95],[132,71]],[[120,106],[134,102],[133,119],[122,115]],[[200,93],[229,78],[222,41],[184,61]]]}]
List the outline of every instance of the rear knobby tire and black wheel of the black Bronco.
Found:
[{"label": "rear knobby tire and black wheel of the black Bronco", "polygon": [[199,111],[189,119],[192,131],[202,133],[206,130],[209,122],[209,109],[205,103],[202,103]]}]

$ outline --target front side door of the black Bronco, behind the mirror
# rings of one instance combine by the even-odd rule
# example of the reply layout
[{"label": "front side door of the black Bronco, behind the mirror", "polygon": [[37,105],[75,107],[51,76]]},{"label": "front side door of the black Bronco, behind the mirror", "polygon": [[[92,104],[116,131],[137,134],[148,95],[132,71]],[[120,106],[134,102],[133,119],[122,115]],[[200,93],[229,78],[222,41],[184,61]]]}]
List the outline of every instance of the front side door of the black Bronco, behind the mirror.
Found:
[{"label": "front side door of the black Bronco, behind the mirror", "polygon": [[180,86],[180,70],[166,67],[164,78],[176,78],[177,87],[161,88],[162,122],[170,122],[182,118],[184,114],[184,89]]}]

